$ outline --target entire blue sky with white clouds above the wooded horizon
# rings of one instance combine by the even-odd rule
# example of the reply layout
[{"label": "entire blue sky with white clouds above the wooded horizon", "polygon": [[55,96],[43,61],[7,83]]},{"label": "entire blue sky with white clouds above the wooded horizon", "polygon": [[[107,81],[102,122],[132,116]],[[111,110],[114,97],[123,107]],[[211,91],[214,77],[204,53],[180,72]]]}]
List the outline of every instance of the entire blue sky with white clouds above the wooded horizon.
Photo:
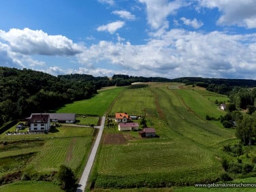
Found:
[{"label": "entire blue sky with white clouds above the wooded horizon", "polygon": [[0,66],[256,79],[255,0],[1,0]]}]

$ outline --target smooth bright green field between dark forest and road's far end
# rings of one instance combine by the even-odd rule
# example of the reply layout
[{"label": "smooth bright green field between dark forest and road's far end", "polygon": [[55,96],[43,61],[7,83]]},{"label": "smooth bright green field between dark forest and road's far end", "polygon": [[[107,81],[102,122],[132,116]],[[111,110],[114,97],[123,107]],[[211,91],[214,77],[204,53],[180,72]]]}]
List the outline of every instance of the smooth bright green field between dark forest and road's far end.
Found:
[{"label": "smooth bright green field between dark forest and road's far end", "polygon": [[110,104],[117,95],[126,89],[125,87],[116,87],[114,89],[106,89],[99,91],[99,93],[91,99],[85,99],[82,101],[75,101],[59,108],[56,112],[59,113],[76,113],[76,114],[95,114],[102,116],[106,110],[110,107]]}]

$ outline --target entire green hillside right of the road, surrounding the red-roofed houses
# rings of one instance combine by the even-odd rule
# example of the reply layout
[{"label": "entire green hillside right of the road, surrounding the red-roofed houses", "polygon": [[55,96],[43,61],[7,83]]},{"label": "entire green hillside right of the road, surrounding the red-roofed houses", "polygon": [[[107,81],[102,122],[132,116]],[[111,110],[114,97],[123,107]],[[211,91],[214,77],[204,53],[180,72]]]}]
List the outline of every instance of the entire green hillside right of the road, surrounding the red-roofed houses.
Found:
[{"label": "entire green hillside right of the road, surrounding the red-roofed houses", "polygon": [[136,131],[121,133],[106,128],[104,134],[121,134],[126,142],[102,144],[95,188],[170,187],[217,181],[223,172],[221,145],[234,139],[234,131],[206,121],[206,114],[225,114],[208,97],[227,99],[201,88],[174,89],[172,84],[123,91],[110,114],[145,115],[159,138],[142,139]]}]

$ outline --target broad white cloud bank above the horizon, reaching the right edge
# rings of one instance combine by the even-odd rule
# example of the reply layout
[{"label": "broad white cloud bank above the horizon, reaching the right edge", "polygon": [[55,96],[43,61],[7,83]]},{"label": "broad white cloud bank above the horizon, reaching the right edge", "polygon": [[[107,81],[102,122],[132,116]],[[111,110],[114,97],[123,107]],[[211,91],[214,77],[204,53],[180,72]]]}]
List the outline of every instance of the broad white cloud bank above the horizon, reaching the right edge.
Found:
[{"label": "broad white cloud bank above the horizon, reaching the right edge", "polygon": [[101,41],[79,54],[78,61],[112,63],[136,76],[256,78],[255,38],[256,33],[172,29],[141,45]]}]

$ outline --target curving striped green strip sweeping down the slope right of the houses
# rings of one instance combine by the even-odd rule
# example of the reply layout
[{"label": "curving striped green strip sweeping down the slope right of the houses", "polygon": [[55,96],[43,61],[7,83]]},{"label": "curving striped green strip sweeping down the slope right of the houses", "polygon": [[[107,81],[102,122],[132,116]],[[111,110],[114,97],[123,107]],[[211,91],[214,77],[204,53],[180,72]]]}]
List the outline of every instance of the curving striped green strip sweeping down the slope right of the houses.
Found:
[{"label": "curving striped green strip sweeping down the slope right of the houses", "polygon": [[[187,97],[193,97],[193,91],[187,91],[186,89],[167,90],[163,87],[153,89],[153,92],[159,99],[161,109],[167,115],[166,120],[170,126],[170,131],[175,131],[182,137],[195,142],[195,144],[202,144],[204,146],[215,146],[219,142],[234,138],[234,133],[231,131],[219,127],[212,121],[206,121],[197,114],[199,109],[196,103],[207,103],[207,100],[195,99],[184,103],[185,99],[180,96],[182,94],[177,95],[175,91],[184,91],[185,93],[182,94],[187,94]],[[191,107],[187,108],[187,106]]]}]

